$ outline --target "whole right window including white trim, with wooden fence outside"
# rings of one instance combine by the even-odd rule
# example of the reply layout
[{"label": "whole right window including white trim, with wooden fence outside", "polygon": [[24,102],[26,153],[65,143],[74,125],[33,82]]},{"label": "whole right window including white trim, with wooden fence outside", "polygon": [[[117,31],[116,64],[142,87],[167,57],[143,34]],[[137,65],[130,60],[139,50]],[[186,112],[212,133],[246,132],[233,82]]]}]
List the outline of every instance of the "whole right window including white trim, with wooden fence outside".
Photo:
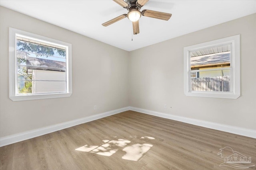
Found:
[{"label": "whole right window including white trim, with wooden fence outside", "polygon": [[240,35],[184,47],[186,96],[240,96]]}]

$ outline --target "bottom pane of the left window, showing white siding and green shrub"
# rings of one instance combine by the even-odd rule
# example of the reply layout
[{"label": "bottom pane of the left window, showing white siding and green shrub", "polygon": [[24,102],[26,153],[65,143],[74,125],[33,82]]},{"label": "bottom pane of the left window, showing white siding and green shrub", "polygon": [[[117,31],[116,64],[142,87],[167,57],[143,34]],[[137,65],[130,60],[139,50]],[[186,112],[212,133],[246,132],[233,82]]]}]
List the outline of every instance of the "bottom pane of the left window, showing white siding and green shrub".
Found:
[{"label": "bottom pane of the left window, showing white siding and green shrub", "polygon": [[66,92],[65,81],[18,80],[18,94]]}]

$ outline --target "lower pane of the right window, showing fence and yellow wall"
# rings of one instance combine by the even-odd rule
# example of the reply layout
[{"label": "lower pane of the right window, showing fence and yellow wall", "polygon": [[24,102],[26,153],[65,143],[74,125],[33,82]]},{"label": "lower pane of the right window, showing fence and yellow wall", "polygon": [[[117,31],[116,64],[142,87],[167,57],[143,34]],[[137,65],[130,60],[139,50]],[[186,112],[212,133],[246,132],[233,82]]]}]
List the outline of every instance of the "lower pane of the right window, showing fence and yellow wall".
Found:
[{"label": "lower pane of the right window, showing fence and yellow wall", "polygon": [[190,78],[191,91],[230,92],[230,70],[191,72],[199,75]]}]

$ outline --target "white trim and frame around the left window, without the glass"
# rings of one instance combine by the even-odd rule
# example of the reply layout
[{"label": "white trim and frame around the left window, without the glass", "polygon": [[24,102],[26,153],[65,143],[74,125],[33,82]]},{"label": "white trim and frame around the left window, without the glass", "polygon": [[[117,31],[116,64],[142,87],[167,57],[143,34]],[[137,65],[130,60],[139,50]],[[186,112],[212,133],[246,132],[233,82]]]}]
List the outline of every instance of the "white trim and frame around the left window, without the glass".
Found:
[{"label": "white trim and frame around the left window, without the glass", "polygon": [[[66,93],[46,93],[46,94],[27,94],[17,95],[17,79],[16,79],[16,34],[24,35],[28,37],[34,37],[42,41],[49,41],[56,43],[56,45],[66,48],[67,60],[66,60],[66,80],[67,80],[67,92]],[[22,100],[37,100],[37,99],[48,99],[48,98],[64,98],[70,97],[72,94],[72,45],[41,35],[36,35],[19,29],[9,27],[9,98],[12,101]]]}]

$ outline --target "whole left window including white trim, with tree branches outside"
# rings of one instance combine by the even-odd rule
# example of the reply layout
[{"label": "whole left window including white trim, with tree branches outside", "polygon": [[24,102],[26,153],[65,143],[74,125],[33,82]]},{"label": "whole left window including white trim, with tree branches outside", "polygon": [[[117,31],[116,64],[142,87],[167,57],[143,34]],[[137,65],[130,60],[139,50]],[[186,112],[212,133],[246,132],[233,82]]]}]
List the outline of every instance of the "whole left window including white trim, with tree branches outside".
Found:
[{"label": "whole left window including white trim, with tree branches outside", "polygon": [[71,44],[9,29],[9,97],[13,101],[69,97]]}]

